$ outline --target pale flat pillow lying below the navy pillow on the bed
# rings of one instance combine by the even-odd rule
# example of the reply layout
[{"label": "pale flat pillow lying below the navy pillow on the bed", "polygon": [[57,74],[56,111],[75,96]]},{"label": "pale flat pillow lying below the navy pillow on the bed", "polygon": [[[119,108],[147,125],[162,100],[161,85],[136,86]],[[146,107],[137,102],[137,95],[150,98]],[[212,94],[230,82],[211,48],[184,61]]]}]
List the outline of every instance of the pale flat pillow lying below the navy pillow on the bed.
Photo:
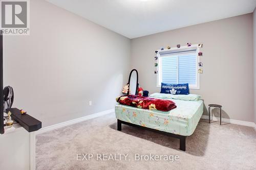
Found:
[{"label": "pale flat pillow lying below the navy pillow on the bed", "polygon": [[162,99],[178,99],[183,101],[198,101],[201,95],[198,94],[166,94],[166,93],[153,93],[150,94],[152,98],[162,98]]}]

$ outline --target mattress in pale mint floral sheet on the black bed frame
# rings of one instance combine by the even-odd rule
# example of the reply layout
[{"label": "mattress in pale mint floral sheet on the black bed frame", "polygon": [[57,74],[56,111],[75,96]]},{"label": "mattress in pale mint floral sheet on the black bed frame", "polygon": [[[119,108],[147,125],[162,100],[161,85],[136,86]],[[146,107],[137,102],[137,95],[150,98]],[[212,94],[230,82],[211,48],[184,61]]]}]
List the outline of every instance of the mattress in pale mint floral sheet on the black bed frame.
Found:
[{"label": "mattress in pale mint floral sheet on the black bed frame", "polygon": [[[166,99],[169,100],[169,99]],[[203,114],[203,101],[174,100],[177,108],[163,112],[117,104],[116,118],[159,131],[190,136]]]}]

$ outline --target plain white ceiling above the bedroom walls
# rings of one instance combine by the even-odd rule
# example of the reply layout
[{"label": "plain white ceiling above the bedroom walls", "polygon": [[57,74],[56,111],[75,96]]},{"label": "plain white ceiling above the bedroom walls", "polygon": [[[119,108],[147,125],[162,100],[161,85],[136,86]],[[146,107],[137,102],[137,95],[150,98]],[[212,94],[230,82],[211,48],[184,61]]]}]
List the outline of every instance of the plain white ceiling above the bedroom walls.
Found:
[{"label": "plain white ceiling above the bedroom walls", "polygon": [[256,0],[46,0],[128,38],[253,12]]}]

